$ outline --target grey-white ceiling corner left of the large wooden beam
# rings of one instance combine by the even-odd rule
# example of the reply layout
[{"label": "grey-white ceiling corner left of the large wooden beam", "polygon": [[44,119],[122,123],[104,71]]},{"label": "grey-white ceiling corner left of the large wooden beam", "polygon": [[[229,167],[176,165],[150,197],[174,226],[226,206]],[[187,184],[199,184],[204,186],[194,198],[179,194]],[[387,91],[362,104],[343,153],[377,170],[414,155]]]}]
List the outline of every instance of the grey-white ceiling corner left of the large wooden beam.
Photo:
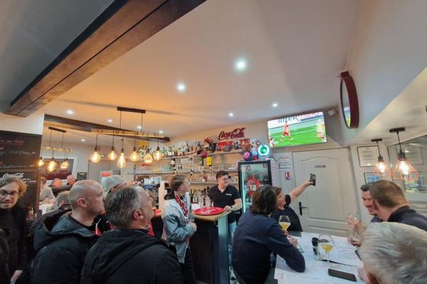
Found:
[{"label": "grey-white ceiling corner left of the large wooden beam", "polygon": [[0,111],[112,0],[1,0]]}]

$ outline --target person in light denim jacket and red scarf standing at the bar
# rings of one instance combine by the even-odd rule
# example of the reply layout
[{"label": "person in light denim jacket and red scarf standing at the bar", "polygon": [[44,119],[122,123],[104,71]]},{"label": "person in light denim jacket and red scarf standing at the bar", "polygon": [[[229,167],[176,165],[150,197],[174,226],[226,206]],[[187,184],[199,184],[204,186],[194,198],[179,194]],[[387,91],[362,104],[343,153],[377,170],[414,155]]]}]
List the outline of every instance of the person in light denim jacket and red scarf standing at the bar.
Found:
[{"label": "person in light denim jacket and red scarf standing at the bar", "polygon": [[196,283],[193,258],[189,247],[189,239],[196,231],[194,216],[191,214],[191,202],[188,192],[190,182],[185,175],[174,175],[169,180],[169,192],[162,212],[162,239],[175,246],[176,256],[181,264],[184,283]]}]

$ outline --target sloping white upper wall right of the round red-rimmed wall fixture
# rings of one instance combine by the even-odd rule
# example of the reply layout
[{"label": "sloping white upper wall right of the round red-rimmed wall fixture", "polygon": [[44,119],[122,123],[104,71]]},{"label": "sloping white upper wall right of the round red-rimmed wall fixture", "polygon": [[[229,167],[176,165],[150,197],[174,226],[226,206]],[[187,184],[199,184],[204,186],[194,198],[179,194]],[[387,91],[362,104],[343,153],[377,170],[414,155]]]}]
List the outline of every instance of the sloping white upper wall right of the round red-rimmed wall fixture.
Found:
[{"label": "sloping white upper wall right of the round red-rimmed wall fixture", "polygon": [[[362,0],[347,70],[359,97],[359,129],[349,143],[427,66],[427,1]],[[337,82],[338,84],[338,82]],[[337,99],[338,100],[338,99]]]}]

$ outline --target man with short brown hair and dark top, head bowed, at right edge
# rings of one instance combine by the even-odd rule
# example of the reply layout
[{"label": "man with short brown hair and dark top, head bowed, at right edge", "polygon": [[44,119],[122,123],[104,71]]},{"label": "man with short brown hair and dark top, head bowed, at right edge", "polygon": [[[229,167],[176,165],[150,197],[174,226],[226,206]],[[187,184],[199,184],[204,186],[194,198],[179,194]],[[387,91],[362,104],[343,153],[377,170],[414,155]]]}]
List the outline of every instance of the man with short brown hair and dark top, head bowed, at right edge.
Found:
[{"label": "man with short brown hair and dark top, head bowed, at right edge", "polygon": [[369,186],[372,204],[379,219],[416,226],[427,231],[427,217],[411,209],[404,191],[394,182],[379,180]]}]

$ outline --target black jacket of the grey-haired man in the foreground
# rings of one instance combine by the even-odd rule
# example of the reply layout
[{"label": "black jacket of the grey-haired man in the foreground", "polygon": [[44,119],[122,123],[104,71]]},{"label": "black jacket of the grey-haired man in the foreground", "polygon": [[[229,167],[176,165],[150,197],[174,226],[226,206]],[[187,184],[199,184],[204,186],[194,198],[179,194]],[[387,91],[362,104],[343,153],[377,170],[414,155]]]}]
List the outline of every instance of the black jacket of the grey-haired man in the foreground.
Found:
[{"label": "black jacket of the grey-haired man in the foreground", "polygon": [[82,284],[183,283],[176,254],[145,230],[114,229],[90,249]]}]

